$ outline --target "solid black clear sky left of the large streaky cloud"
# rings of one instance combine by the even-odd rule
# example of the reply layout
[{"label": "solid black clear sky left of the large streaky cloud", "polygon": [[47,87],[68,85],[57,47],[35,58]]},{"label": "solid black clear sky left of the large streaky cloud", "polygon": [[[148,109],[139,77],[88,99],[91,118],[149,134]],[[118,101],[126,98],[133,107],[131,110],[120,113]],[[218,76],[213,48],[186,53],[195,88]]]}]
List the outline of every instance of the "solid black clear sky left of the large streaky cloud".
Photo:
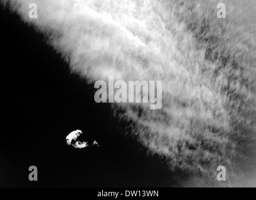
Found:
[{"label": "solid black clear sky left of the large streaky cloud", "polygon": [[[1,187],[179,185],[161,159],[123,134],[127,124],[95,103],[93,86],[70,74],[40,33],[7,9],[0,9],[0,27]],[[100,148],[68,146],[76,129]],[[28,180],[29,166],[38,168],[36,183]]]}]

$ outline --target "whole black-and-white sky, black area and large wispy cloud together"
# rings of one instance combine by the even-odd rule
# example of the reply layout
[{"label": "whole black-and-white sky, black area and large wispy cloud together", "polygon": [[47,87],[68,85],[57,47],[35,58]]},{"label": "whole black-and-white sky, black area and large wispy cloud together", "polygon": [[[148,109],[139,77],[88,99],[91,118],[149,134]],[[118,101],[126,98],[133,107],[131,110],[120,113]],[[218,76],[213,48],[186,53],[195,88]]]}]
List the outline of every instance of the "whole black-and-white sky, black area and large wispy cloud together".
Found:
[{"label": "whole black-and-white sky, black area and large wispy cloud together", "polygon": [[[0,2],[0,186],[256,186],[255,1]],[[95,103],[109,76],[163,81],[163,107]]]}]

